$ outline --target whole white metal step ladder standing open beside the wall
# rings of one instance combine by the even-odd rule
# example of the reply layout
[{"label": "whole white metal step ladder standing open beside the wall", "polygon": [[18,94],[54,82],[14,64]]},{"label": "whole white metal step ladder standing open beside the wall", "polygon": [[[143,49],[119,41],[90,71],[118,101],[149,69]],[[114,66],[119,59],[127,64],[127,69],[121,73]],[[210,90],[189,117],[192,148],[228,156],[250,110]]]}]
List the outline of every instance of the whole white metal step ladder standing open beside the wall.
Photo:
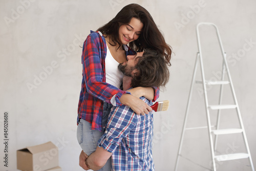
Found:
[{"label": "whole white metal step ladder standing open beside the wall", "polygon": [[[202,58],[202,51],[201,51],[201,44],[200,44],[200,35],[199,35],[199,26],[201,26],[201,25],[214,26],[215,29],[216,29],[216,33],[217,33],[217,37],[218,37],[218,40],[219,40],[221,53],[222,53],[222,57],[223,57],[222,78],[221,78],[221,80],[218,80],[218,81],[207,81],[207,80],[205,80],[204,68],[203,68],[203,58]],[[230,73],[229,73],[229,69],[228,69],[228,65],[227,65],[226,53],[223,50],[223,46],[222,46],[222,42],[221,42],[221,38],[220,38],[220,34],[219,34],[219,30],[218,30],[217,26],[215,24],[212,24],[212,23],[199,23],[197,25],[197,41],[198,41],[198,51],[199,52],[197,53],[193,78],[192,78],[192,81],[191,81],[191,86],[190,86],[190,91],[189,91],[189,96],[188,96],[188,101],[187,101],[187,107],[186,107],[186,113],[185,113],[185,119],[184,119],[184,123],[183,123],[181,139],[180,139],[180,145],[179,145],[177,160],[176,160],[176,164],[175,164],[175,171],[177,171],[179,159],[181,157],[181,148],[182,148],[182,143],[183,143],[183,138],[184,138],[185,131],[186,130],[192,130],[192,129],[201,129],[201,128],[207,128],[208,129],[209,141],[210,141],[211,160],[212,160],[212,168],[210,168],[211,170],[213,169],[214,171],[216,171],[216,169],[217,169],[216,168],[216,161],[228,161],[228,160],[248,158],[249,162],[250,162],[251,169],[254,171],[254,167],[253,167],[253,163],[252,163],[252,159],[251,159],[251,155],[250,155],[250,151],[249,151],[247,138],[246,138],[246,135],[245,135],[244,125],[243,125],[243,122],[242,122],[242,117],[241,117],[241,113],[240,113],[239,106],[238,106],[238,101],[237,101],[236,95],[234,93],[234,88],[233,88],[233,84],[232,84],[232,81],[231,81],[231,77],[230,77]],[[202,81],[195,81],[197,67],[198,67],[198,61],[200,62],[200,66],[201,66]],[[228,77],[227,81],[224,80],[225,73],[227,74],[227,77]],[[187,128],[186,123],[187,123],[188,110],[189,110],[189,105],[190,105],[190,101],[191,101],[191,94],[192,94],[193,86],[194,86],[195,82],[196,83],[201,83],[203,85],[207,126]],[[206,90],[206,85],[207,84],[208,85],[220,85],[220,95],[219,95],[219,104],[218,105],[209,105],[208,104],[207,90]],[[232,93],[232,97],[233,97],[233,100],[234,100],[234,104],[227,104],[227,105],[221,104],[222,103],[222,93],[223,93],[223,85],[224,84],[229,84],[230,89],[231,89],[231,93]],[[239,119],[239,123],[240,123],[240,129],[226,129],[226,130],[220,130],[219,129],[220,111],[222,109],[236,109],[238,119]],[[210,110],[218,110],[217,123],[216,123],[215,126],[212,126],[211,122],[210,122]],[[215,127],[215,129],[212,130],[212,127]],[[216,153],[216,148],[217,148],[218,135],[235,134],[235,133],[240,133],[240,134],[243,135],[243,140],[244,140],[247,152],[246,153],[237,153],[237,154],[216,155],[215,153]],[[215,135],[215,142],[213,142],[213,138],[212,138],[213,135]]]}]

